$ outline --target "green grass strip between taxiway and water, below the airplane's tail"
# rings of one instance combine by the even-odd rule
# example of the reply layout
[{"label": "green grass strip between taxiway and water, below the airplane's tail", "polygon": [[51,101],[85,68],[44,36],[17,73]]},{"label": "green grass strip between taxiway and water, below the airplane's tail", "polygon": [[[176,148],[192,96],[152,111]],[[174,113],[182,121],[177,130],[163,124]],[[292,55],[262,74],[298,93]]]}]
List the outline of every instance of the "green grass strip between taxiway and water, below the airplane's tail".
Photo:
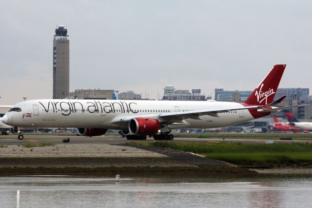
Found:
[{"label": "green grass strip between taxiway and water, below the airplane's tail", "polygon": [[312,164],[312,144],[201,144],[167,141],[139,144],[199,153],[208,158],[236,165],[301,166]]}]

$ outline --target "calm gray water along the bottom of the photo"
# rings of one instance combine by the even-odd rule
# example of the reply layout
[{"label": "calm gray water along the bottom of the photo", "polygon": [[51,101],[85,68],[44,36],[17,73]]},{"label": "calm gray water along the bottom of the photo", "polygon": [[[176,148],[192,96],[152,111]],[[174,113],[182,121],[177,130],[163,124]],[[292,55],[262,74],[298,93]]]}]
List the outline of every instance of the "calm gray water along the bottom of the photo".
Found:
[{"label": "calm gray water along the bottom of the photo", "polygon": [[311,207],[312,175],[0,177],[0,207]]}]

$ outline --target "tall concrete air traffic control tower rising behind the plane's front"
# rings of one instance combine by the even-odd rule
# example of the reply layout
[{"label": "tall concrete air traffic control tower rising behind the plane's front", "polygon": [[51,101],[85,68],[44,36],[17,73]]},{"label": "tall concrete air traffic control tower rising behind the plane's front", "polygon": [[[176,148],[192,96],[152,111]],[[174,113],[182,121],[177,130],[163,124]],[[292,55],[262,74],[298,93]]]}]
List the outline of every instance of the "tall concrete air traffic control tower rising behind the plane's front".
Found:
[{"label": "tall concrete air traffic control tower rising behind the plane's front", "polygon": [[69,96],[69,37],[64,25],[58,25],[53,39],[53,99]]}]

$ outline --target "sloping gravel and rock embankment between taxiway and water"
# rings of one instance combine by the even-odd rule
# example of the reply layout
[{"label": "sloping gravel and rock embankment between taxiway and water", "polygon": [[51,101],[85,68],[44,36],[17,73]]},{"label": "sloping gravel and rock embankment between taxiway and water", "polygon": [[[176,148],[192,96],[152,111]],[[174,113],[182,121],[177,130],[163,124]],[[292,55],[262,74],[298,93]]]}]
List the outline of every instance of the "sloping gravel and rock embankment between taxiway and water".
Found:
[{"label": "sloping gravel and rock embankment between taxiway and water", "polygon": [[221,161],[132,144],[60,144],[0,148],[0,174],[253,173]]}]

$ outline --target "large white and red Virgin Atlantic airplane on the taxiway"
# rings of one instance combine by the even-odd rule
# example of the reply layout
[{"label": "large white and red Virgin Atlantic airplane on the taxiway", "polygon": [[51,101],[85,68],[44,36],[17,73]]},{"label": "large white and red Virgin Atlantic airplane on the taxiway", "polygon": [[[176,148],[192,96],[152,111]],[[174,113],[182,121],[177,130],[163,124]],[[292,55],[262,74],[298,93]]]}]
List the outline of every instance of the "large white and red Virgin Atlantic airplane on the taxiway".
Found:
[{"label": "large white and red Virgin Atlantic airplane on the taxiway", "polygon": [[[273,102],[285,70],[274,65],[244,103],[146,100],[29,100],[14,105],[2,118],[19,127],[75,127],[81,136],[100,136],[108,129],[121,130],[127,139],[173,140],[172,129],[218,128],[235,125],[297,107],[274,107]],[[302,105],[301,105],[302,106]],[[18,127],[13,128],[17,132]],[[23,139],[23,135],[18,136]]]}]

